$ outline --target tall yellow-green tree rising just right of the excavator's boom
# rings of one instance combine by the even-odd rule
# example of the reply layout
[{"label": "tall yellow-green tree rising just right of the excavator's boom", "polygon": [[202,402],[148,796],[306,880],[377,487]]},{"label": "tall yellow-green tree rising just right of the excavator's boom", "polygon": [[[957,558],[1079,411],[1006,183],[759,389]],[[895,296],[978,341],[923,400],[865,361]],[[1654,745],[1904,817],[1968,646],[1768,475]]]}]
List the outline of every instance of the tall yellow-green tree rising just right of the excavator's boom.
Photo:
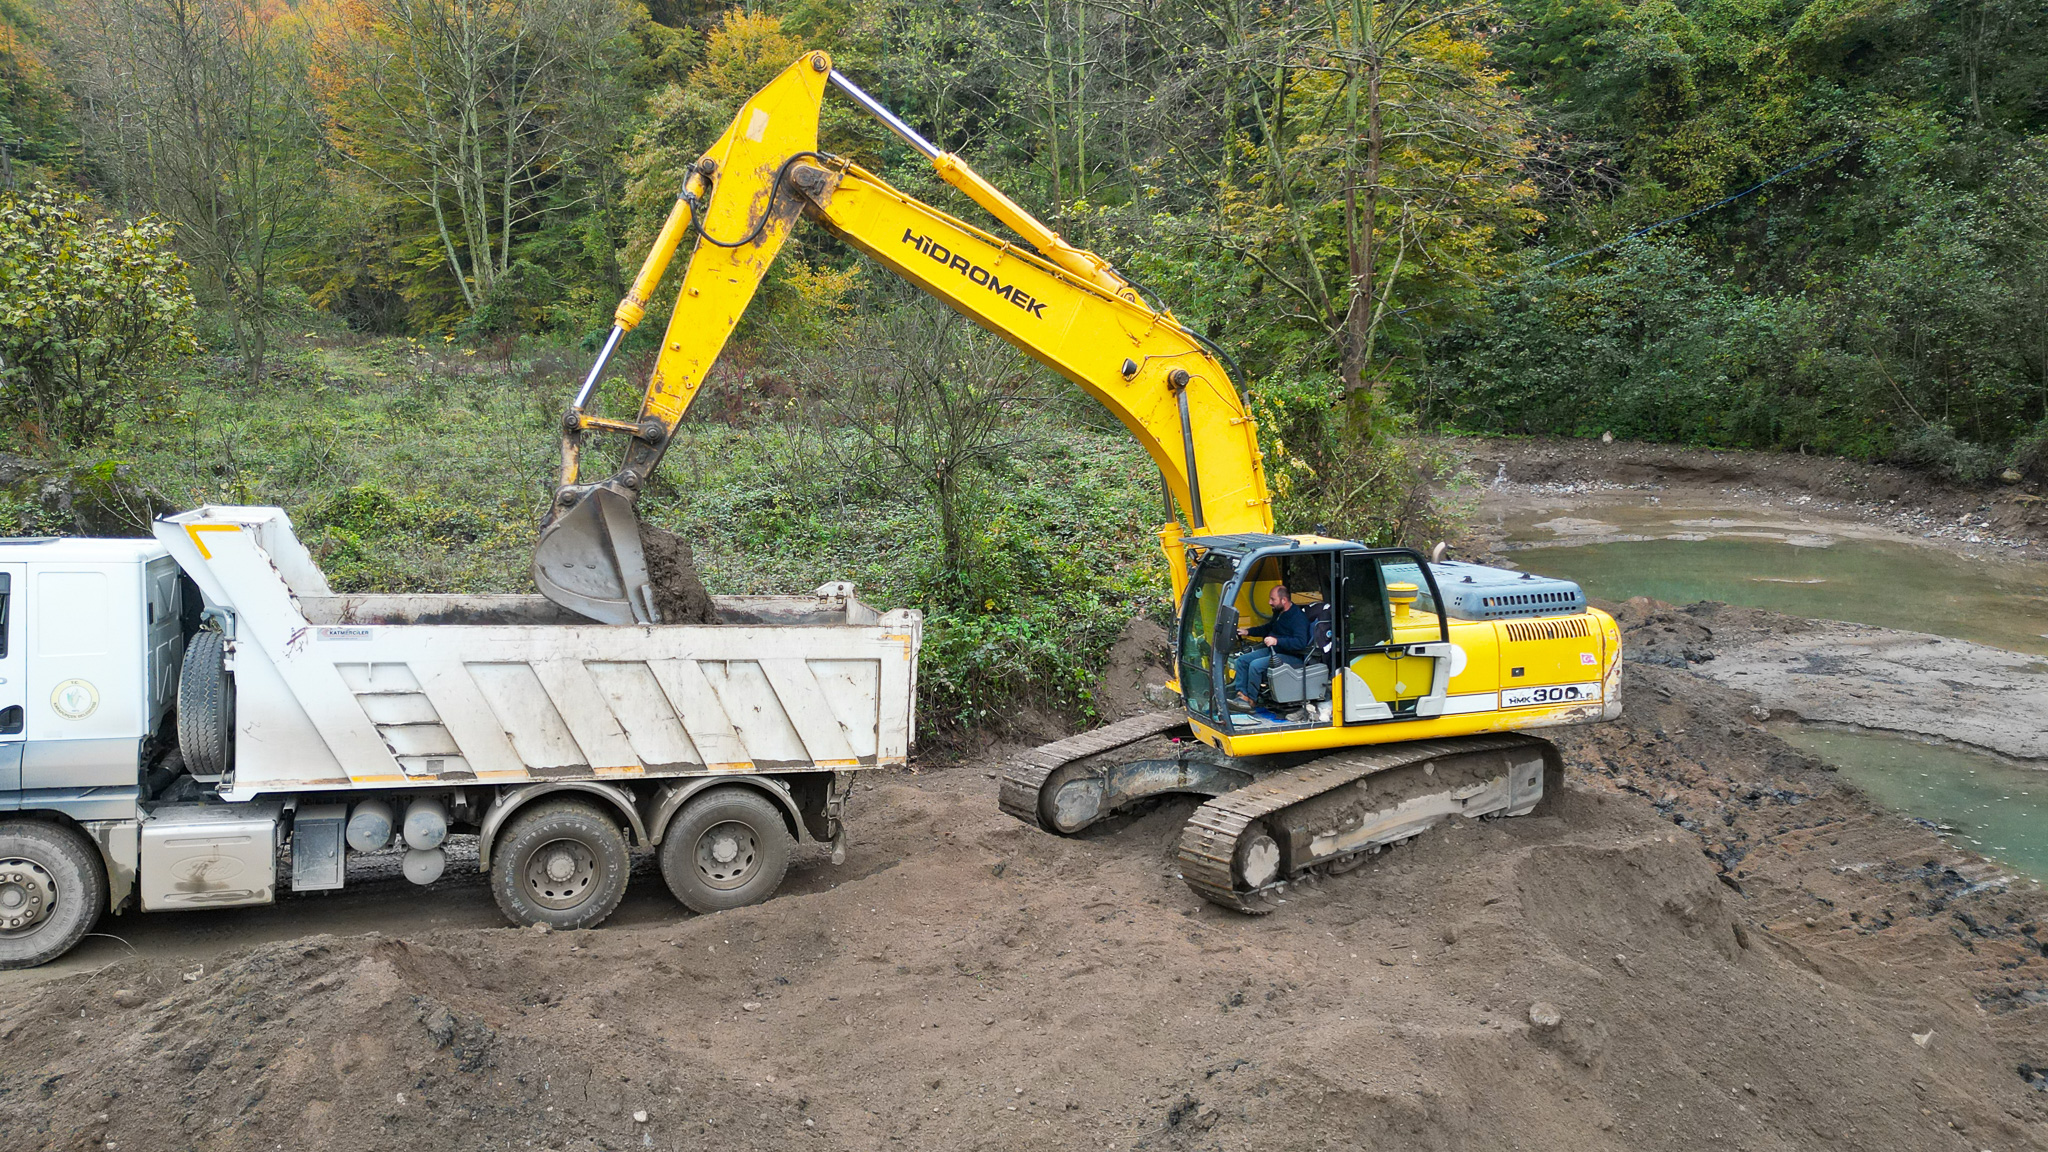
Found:
[{"label": "tall yellow-green tree rising just right of the excavator's boom", "polygon": [[[1483,37],[1493,14],[1329,0],[1219,16],[1249,70],[1260,160],[1223,189],[1219,240],[1327,336],[1346,396],[1386,379],[1389,320],[1481,287],[1540,219],[1528,123]],[[1403,289],[1415,303],[1397,310]]]}]

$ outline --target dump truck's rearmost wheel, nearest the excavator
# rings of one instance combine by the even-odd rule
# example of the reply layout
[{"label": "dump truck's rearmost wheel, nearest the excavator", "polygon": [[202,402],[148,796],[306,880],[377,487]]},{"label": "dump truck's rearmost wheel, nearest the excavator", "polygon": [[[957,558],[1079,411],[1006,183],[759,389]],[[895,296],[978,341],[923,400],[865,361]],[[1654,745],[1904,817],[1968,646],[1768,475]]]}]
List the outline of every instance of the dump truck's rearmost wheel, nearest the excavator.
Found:
[{"label": "dump truck's rearmost wheel, nearest the excavator", "polygon": [[795,849],[774,801],[750,787],[715,787],[662,836],[662,879],[692,912],[745,908],[774,896]]}]

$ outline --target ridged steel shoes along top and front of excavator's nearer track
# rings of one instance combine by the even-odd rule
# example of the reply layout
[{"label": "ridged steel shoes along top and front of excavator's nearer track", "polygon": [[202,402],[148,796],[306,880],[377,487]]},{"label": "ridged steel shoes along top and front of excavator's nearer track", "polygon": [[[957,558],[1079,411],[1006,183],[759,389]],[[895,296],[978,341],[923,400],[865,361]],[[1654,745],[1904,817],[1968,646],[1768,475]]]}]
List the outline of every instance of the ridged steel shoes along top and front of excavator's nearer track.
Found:
[{"label": "ridged steel shoes along top and front of excavator's nearer track", "polygon": [[1333,752],[1319,760],[1272,773],[1257,783],[1219,795],[1194,810],[1194,816],[1180,830],[1180,875],[1188,881],[1188,888],[1210,904],[1253,916],[1272,912],[1286,888],[1307,873],[1307,867],[1264,888],[1251,892],[1239,890],[1235,873],[1237,845],[1251,824],[1370,775],[1462,752],[1493,752],[1530,744],[1544,744],[1544,740],[1513,734],[1413,740],[1380,748]]}]

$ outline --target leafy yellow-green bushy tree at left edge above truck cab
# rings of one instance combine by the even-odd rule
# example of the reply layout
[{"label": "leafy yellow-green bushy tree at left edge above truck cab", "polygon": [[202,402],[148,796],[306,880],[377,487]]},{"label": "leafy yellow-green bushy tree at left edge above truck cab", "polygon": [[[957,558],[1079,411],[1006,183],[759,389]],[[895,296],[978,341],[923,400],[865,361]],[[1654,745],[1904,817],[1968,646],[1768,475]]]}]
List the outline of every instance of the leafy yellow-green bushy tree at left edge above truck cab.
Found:
[{"label": "leafy yellow-green bushy tree at left edge above truck cab", "polygon": [[164,398],[160,363],[193,351],[172,230],[117,223],[76,193],[0,195],[0,406],[76,447]]}]

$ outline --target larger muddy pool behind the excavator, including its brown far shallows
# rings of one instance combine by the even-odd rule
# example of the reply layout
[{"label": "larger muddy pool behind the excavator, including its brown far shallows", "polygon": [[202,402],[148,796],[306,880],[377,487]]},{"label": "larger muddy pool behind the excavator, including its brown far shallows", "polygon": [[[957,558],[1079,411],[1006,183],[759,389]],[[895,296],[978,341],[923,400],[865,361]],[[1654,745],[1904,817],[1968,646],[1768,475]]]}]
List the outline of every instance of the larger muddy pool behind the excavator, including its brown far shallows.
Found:
[{"label": "larger muddy pool behind the excavator, including its brown far shallows", "polygon": [[1782,512],[1585,504],[1503,521],[1518,564],[1587,594],[1724,601],[2048,654],[2048,566]]}]

